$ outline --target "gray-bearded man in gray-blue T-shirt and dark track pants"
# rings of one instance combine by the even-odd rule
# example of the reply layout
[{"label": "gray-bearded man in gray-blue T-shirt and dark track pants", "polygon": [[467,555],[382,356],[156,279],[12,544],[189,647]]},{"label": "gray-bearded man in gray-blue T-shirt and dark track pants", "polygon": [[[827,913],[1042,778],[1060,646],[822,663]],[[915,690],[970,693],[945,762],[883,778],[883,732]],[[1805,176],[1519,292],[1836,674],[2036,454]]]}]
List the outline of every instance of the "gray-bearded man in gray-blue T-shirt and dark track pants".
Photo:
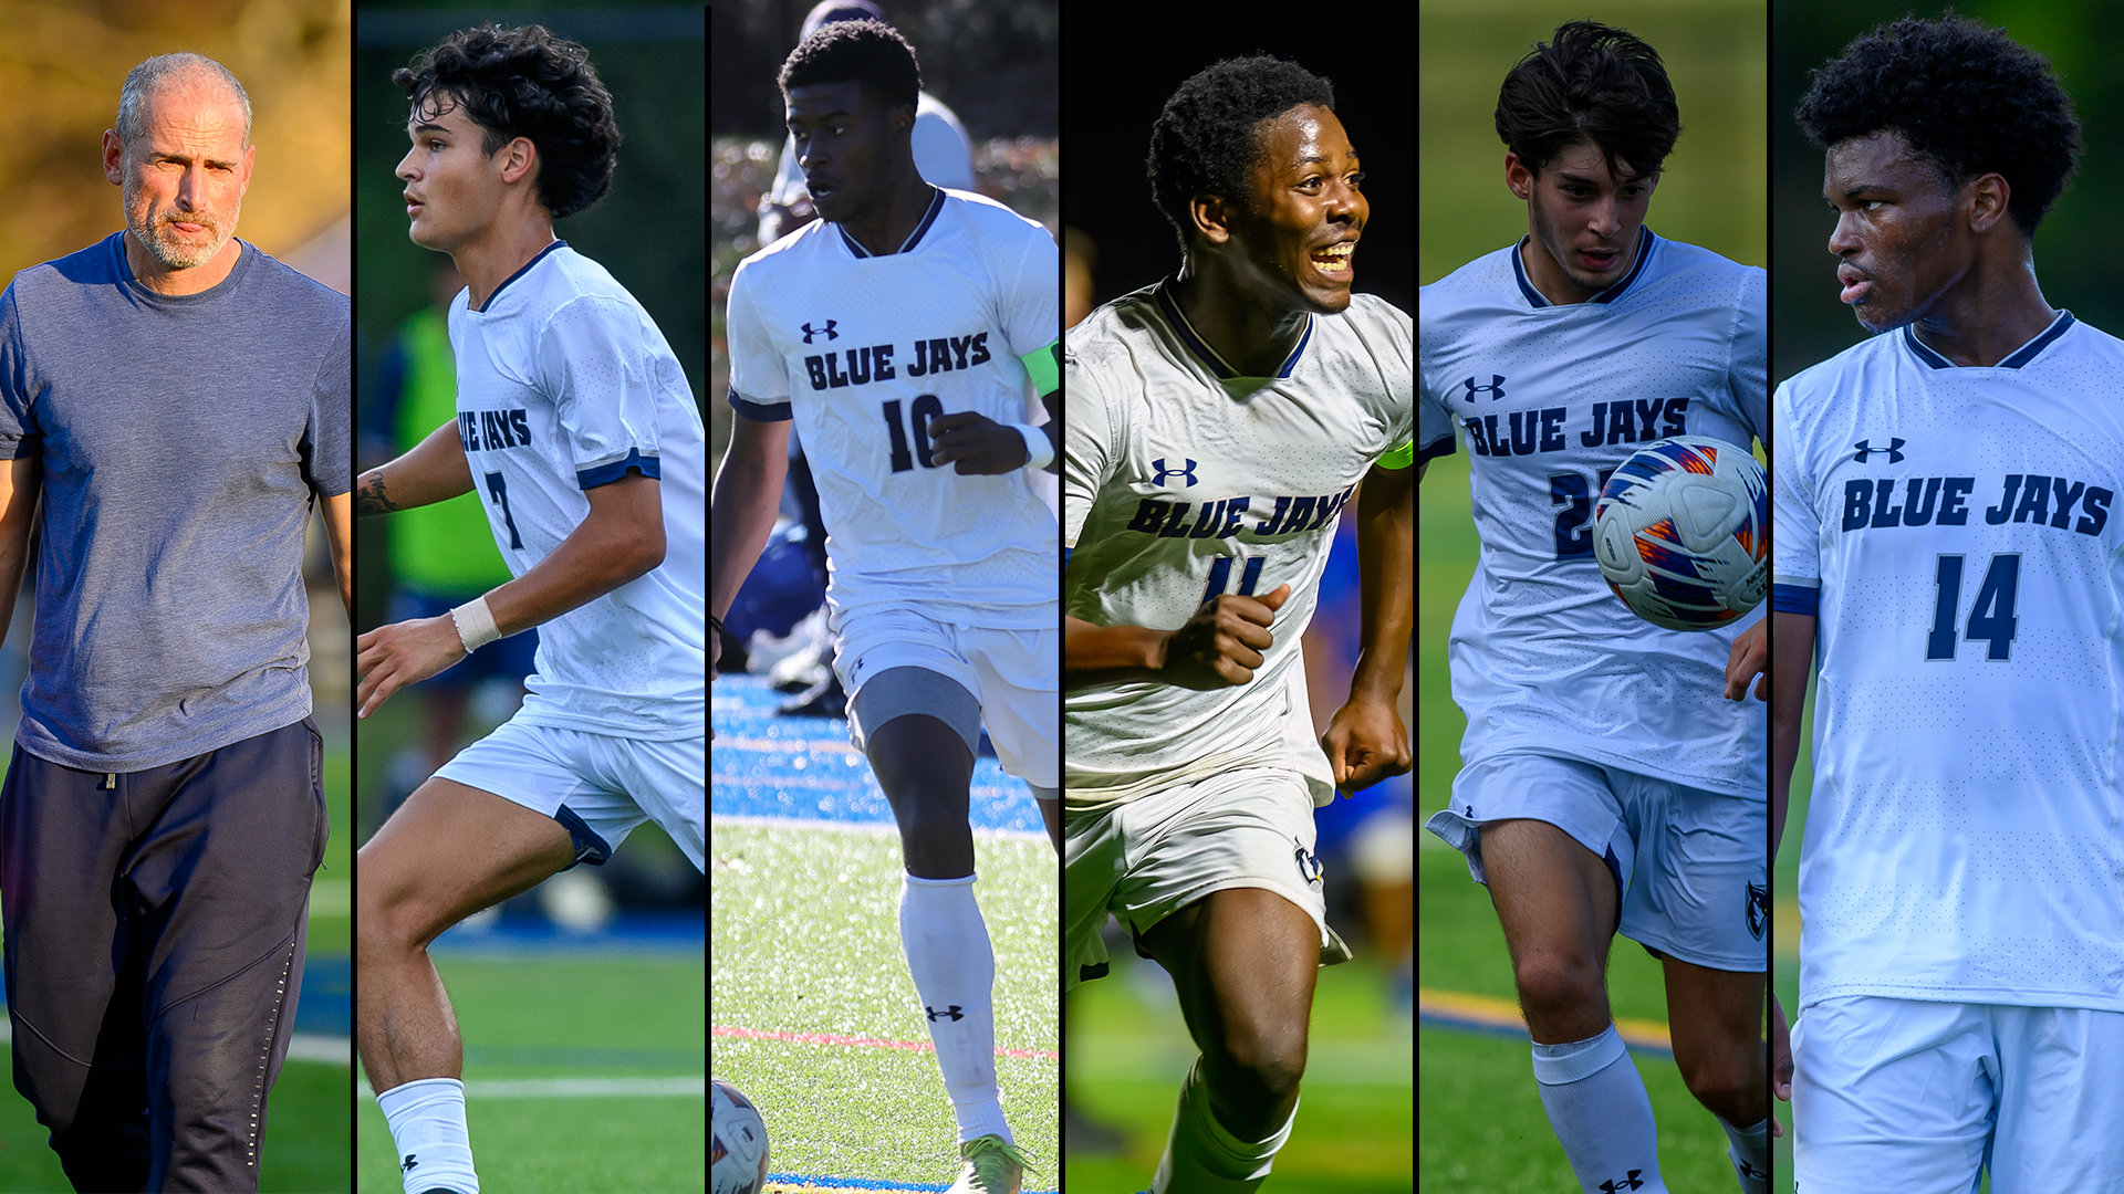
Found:
[{"label": "gray-bearded man in gray-blue T-shirt and dark track pants", "polygon": [[0,295],[0,595],[42,529],[6,996],[81,1190],[257,1190],[325,850],[302,550],[323,501],[350,605],[350,317],[236,240],[253,155],[234,74],[142,62],[125,232]]}]

